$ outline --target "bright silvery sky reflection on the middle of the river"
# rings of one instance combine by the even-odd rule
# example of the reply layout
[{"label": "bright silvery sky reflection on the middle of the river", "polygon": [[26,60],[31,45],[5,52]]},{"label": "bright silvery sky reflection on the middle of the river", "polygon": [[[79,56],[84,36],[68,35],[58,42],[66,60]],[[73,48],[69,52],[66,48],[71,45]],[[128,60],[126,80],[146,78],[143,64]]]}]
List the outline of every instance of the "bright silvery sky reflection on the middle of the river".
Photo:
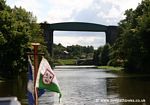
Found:
[{"label": "bright silvery sky reflection on the middle of the river", "polygon": [[91,68],[57,69],[55,72],[63,92],[61,105],[107,105],[99,100],[107,98],[106,78],[116,75]]}]

